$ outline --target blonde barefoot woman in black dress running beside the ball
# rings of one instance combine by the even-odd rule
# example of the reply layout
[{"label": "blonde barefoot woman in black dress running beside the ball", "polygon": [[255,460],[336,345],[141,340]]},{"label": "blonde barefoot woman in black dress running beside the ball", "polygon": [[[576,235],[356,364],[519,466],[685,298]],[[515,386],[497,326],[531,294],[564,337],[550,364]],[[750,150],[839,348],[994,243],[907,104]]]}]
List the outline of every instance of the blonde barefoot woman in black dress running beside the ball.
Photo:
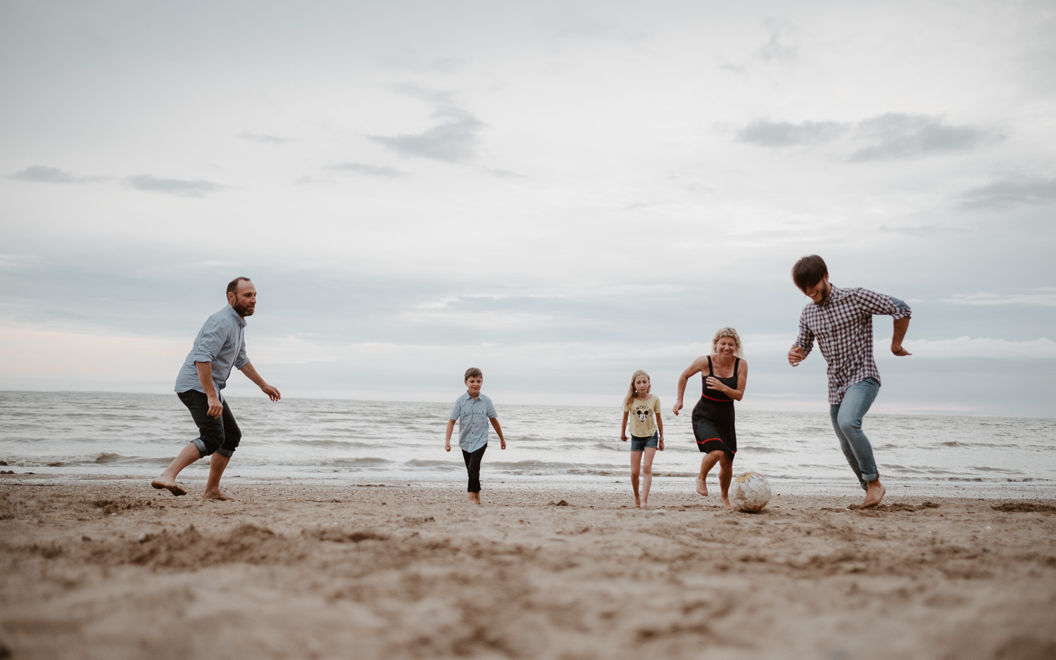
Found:
[{"label": "blonde barefoot woman in black dress running beside the ball", "polygon": [[678,378],[678,400],[675,414],[682,409],[685,383],[700,374],[703,392],[693,409],[693,435],[703,454],[697,475],[697,492],[708,495],[708,472],[719,464],[719,487],[722,504],[730,506],[730,480],[733,478],[733,456],[737,453],[737,431],[734,428],[733,402],[744,396],[748,362],[740,347],[740,337],[732,327],[723,327],[712,339],[712,355],[693,361]]}]

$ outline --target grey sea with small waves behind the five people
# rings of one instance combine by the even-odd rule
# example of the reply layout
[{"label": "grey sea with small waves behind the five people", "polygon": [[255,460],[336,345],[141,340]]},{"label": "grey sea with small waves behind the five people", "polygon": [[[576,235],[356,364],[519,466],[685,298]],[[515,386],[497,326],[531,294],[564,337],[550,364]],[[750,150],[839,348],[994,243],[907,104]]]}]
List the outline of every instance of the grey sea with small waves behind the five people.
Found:
[{"label": "grey sea with small waves behind the five people", "polygon": [[[229,402],[243,438],[225,478],[465,480],[457,429],[452,451],[444,450],[451,403]],[[630,447],[620,440],[619,408],[496,403],[496,410],[508,448],[501,451],[489,429],[486,484],[627,484]],[[682,487],[699,468],[690,410],[662,417],[666,449],[654,460],[657,484]],[[864,429],[886,485],[1056,497],[1056,419],[869,414]],[[196,435],[175,395],[0,392],[4,470],[153,476]],[[776,486],[822,491],[856,487],[825,413],[739,410],[737,438],[736,473],[756,471]],[[183,475],[207,470],[208,461],[200,460]]]}]

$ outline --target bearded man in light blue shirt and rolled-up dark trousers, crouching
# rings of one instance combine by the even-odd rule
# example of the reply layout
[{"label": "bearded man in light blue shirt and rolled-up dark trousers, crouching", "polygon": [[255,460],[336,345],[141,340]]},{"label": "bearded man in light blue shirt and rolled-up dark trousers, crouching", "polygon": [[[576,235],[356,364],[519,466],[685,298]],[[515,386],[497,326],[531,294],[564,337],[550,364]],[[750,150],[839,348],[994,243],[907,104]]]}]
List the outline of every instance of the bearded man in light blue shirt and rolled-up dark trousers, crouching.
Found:
[{"label": "bearded man in light blue shirt and rolled-up dark trousers, crouching", "polygon": [[246,317],[257,306],[257,289],[249,278],[234,278],[227,285],[227,306],[209,317],[194,339],[176,377],[176,395],[191,412],[199,428],[199,437],[172,459],[151,486],[167,489],[173,495],[186,495],[176,484],[180,471],[203,456],[212,455],[209,480],[202,499],[230,499],[220,491],[220,477],[242,438],[231,408],[220,392],[227,384],[231,367],[257,383],[272,401],[281,398],[279,391],[264,382],[246,357]]}]

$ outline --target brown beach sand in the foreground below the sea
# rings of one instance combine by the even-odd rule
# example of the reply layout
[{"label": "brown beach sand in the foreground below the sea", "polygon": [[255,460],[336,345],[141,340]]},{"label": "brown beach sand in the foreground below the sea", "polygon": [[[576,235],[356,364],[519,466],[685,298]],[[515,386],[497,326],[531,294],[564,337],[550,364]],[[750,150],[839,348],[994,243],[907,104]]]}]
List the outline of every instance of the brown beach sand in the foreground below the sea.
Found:
[{"label": "brown beach sand in the foreground below the sea", "polygon": [[182,480],[0,478],[0,658],[1056,657],[1053,501]]}]

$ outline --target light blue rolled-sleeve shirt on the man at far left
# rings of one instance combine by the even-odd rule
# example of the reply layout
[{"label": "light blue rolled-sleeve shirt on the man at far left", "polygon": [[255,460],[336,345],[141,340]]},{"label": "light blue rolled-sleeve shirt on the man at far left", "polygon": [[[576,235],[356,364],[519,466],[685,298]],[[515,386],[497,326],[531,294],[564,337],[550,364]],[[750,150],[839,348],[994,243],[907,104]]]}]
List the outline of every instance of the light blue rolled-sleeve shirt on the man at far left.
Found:
[{"label": "light blue rolled-sleeve shirt on the man at far left", "polygon": [[246,320],[231,305],[209,317],[194,338],[194,347],[180,367],[176,392],[197,390],[204,394],[205,389],[199,380],[194,362],[212,362],[212,384],[216,389],[216,396],[223,400],[220,391],[227,385],[231,367],[242,369],[249,362],[246,357],[245,332]]}]

